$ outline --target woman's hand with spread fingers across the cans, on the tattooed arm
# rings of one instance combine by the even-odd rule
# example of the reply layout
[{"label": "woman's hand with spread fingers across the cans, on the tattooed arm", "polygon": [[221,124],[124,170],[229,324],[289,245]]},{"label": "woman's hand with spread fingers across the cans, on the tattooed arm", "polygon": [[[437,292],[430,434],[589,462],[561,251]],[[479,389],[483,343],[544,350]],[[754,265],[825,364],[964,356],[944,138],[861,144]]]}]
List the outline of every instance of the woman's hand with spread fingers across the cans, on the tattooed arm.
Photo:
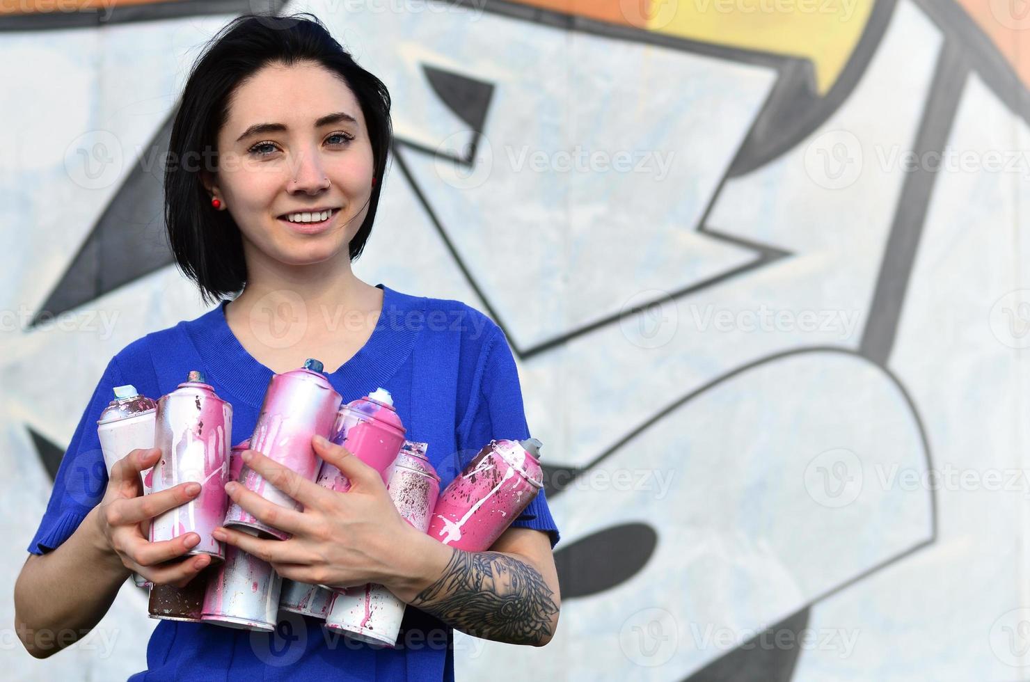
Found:
[{"label": "woman's hand with spread fingers across the cans, on the tattooed arm", "polygon": [[[393,506],[382,478],[346,448],[312,439],[315,453],[337,467],[350,489],[337,492],[317,485],[255,450],[242,452],[248,467],[304,506],[280,507],[236,482],[226,491],[269,525],[293,534],[288,540],[263,540],[219,526],[214,537],[268,561],[283,578],[313,585],[353,587],[368,582],[389,586],[403,571],[407,542],[418,534]],[[419,534],[420,535],[420,534]]]}]

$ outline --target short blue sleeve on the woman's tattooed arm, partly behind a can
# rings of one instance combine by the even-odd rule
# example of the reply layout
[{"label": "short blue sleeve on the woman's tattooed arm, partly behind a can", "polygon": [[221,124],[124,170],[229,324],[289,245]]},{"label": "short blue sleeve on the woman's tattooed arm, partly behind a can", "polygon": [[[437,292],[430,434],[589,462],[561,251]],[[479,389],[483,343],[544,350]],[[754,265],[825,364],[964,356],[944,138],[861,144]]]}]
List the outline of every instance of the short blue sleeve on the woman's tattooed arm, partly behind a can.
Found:
[{"label": "short blue sleeve on the woman's tattooed arm, partly behind a can", "polygon": [[[529,438],[522,405],[518,369],[508,339],[500,327],[485,342],[483,359],[477,368],[469,411],[458,429],[459,447],[478,451],[491,440]],[[514,520],[512,527],[535,528],[550,536],[551,548],[560,537],[551,516],[547,496],[541,488],[529,506]]]}]

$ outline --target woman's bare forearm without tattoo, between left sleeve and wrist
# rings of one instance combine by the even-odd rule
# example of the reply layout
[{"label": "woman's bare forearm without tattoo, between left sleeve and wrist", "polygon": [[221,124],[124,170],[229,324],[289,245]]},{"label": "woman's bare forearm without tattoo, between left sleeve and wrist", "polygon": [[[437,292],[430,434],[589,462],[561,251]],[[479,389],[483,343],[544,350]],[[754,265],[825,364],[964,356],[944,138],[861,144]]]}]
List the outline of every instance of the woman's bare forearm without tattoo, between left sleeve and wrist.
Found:
[{"label": "woman's bare forearm without tattoo, between left sleeve and wrist", "polygon": [[94,515],[46,554],[29,556],[14,584],[14,626],[25,648],[46,658],[100,622],[131,575],[104,546]]}]

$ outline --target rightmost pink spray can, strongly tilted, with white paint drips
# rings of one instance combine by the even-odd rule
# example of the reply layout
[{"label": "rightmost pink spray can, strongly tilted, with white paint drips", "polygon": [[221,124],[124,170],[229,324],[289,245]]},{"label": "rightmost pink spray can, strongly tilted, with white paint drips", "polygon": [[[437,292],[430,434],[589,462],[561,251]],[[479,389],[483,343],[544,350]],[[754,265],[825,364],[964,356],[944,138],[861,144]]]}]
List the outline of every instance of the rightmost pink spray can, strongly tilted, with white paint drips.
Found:
[{"label": "rightmost pink spray can, strongly tilted, with white paint drips", "polygon": [[481,552],[501,537],[544,486],[541,442],[490,441],[437,501],[430,537]]}]

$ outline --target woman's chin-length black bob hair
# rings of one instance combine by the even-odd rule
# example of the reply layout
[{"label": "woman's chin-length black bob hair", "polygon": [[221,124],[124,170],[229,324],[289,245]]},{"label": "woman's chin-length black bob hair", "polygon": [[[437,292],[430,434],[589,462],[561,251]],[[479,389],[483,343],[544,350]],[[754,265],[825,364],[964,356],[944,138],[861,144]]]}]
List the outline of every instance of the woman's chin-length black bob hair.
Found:
[{"label": "woman's chin-length black bob hair", "polygon": [[[310,20],[305,19],[310,16]],[[354,62],[310,12],[290,16],[242,14],[206,44],[194,64],[172,123],[165,169],[165,224],[175,261],[197,282],[205,303],[243,289],[247,279],[240,230],[229,211],[217,211],[198,172],[217,169],[217,135],[236,88],[270,64],[310,62],[339,74],[362,107],[378,181],[369,212],[350,241],[350,260],[360,255],[372,233],[386,160],[392,144],[390,97],[379,78]],[[203,159],[204,166],[171,160]],[[214,162],[208,161],[213,159]]]}]

